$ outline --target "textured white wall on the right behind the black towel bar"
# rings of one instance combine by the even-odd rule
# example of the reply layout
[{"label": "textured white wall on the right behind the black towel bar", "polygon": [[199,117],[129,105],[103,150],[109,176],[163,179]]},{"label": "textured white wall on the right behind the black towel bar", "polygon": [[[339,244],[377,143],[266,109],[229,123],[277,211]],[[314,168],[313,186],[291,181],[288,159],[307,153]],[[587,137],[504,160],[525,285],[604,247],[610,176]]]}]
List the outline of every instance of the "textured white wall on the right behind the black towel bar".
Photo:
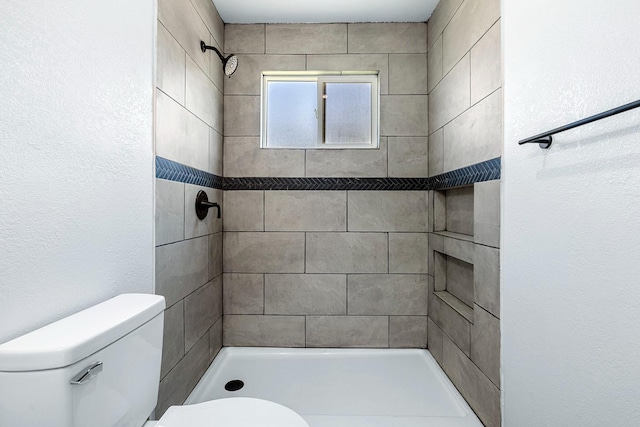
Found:
[{"label": "textured white wall on the right behind the black towel bar", "polygon": [[503,0],[506,426],[640,419],[640,2]]}]

